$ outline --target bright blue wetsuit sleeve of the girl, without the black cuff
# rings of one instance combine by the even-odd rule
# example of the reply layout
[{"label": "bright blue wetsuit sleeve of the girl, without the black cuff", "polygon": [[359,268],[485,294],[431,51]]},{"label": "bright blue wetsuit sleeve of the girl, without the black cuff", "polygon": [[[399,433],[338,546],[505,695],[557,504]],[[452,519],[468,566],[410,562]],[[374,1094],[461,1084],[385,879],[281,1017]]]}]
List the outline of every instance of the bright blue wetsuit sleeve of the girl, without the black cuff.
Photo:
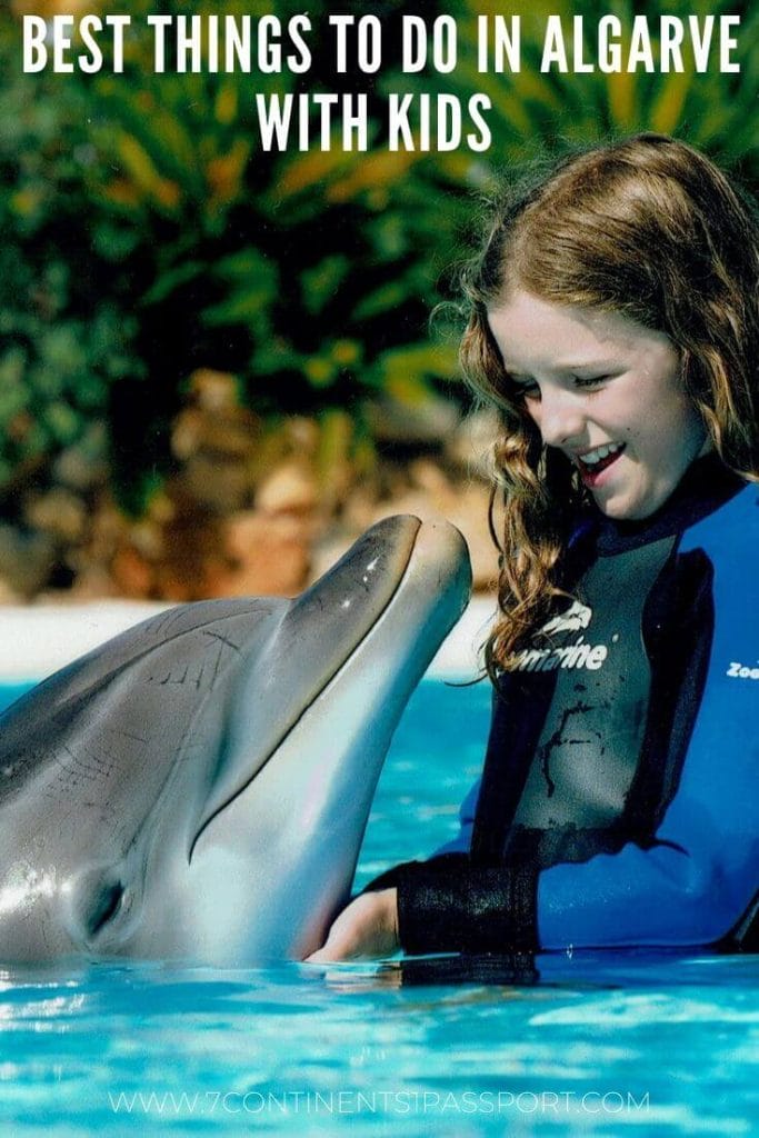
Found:
[{"label": "bright blue wetsuit sleeve of the girl, without the black cuff", "polygon": [[[756,494],[715,543],[708,676],[674,797],[651,843],[545,869],[537,939],[575,946],[715,945],[759,884],[759,596]],[[736,503],[736,505],[740,503]],[[745,535],[745,536],[744,536]]]}]

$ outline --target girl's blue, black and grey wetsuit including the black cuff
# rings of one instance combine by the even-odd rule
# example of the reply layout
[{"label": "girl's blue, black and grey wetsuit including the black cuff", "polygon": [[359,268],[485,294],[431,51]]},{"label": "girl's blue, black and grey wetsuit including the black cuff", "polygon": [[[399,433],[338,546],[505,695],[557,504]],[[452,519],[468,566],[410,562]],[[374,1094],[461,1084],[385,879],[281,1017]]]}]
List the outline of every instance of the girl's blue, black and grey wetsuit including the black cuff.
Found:
[{"label": "girl's blue, black and grey wetsuit including the black cuff", "polygon": [[759,949],[759,488],[698,461],[641,522],[600,513],[575,602],[494,696],[454,842],[398,888],[409,953]]}]

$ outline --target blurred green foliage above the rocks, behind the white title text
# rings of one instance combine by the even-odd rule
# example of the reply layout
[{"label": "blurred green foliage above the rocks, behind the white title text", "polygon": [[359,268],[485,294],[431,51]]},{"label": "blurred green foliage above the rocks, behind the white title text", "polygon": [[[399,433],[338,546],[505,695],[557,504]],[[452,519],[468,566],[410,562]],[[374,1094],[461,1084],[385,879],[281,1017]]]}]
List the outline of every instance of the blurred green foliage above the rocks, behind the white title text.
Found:
[{"label": "blurred green foliage above the rocks, behind the white title text", "polygon": [[[187,11],[183,0],[159,7]],[[283,20],[303,10],[296,0],[273,7]],[[139,509],[141,488],[167,467],[168,423],[198,366],[238,374],[262,414],[343,407],[360,417],[379,394],[423,401],[454,374],[452,346],[430,347],[427,324],[464,242],[472,193],[488,193],[505,167],[541,149],[655,129],[756,183],[759,10],[748,0],[667,6],[742,16],[746,51],[735,75],[541,74],[545,16],[561,14],[569,27],[576,14],[555,0],[510,6],[523,17],[523,67],[513,75],[477,71],[477,16],[502,5],[430,2],[428,19],[456,16],[459,67],[403,75],[394,20],[418,7],[355,6],[377,10],[386,33],[382,74],[369,84],[371,149],[355,155],[266,154],[258,141],[255,93],[368,86],[337,79],[319,44],[307,88],[287,71],[154,75],[151,44],[137,31],[124,75],[23,75],[18,23],[0,14],[0,493],[101,421],[117,486]],[[108,6],[129,11],[134,30],[154,9],[152,0]],[[272,5],[205,0],[192,9],[256,18]],[[324,0],[310,5],[315,28],[330,10]],[[583,11],[589,26],[604,11],[627,24],[647,14],[654,26],[660,6],[614,0]],[[492,149],[388,152],[390,90],[445,91],[464,105],[486,92]]]}]

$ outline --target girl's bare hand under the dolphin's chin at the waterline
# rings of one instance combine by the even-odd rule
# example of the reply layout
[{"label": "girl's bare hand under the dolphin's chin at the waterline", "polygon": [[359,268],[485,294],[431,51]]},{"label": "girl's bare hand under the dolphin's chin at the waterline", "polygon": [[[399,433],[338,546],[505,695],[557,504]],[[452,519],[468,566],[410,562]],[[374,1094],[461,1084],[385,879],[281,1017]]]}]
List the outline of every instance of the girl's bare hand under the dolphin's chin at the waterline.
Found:
[{"label": "girl's bare hand under the dolphin's chin at the waterline", "polygon": [[333,922],[327,941],[306,957],[310,964],[391,956],[398,943],[398,890],[361,893]]}]

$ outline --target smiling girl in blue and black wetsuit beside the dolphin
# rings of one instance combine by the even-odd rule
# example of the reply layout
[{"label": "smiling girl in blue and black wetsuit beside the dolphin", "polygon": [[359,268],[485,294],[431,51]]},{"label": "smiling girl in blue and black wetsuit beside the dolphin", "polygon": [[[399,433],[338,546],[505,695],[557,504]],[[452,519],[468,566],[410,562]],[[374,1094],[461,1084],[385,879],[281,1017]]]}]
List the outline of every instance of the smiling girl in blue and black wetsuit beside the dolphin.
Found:
[{"label": "smiling girl in blue and black wetsuit beside the dolphin", "polygon": [[759,948],[759,229],[645,134],[502,205],[464,372],[503,495],[482,778],[312,960]]}]

